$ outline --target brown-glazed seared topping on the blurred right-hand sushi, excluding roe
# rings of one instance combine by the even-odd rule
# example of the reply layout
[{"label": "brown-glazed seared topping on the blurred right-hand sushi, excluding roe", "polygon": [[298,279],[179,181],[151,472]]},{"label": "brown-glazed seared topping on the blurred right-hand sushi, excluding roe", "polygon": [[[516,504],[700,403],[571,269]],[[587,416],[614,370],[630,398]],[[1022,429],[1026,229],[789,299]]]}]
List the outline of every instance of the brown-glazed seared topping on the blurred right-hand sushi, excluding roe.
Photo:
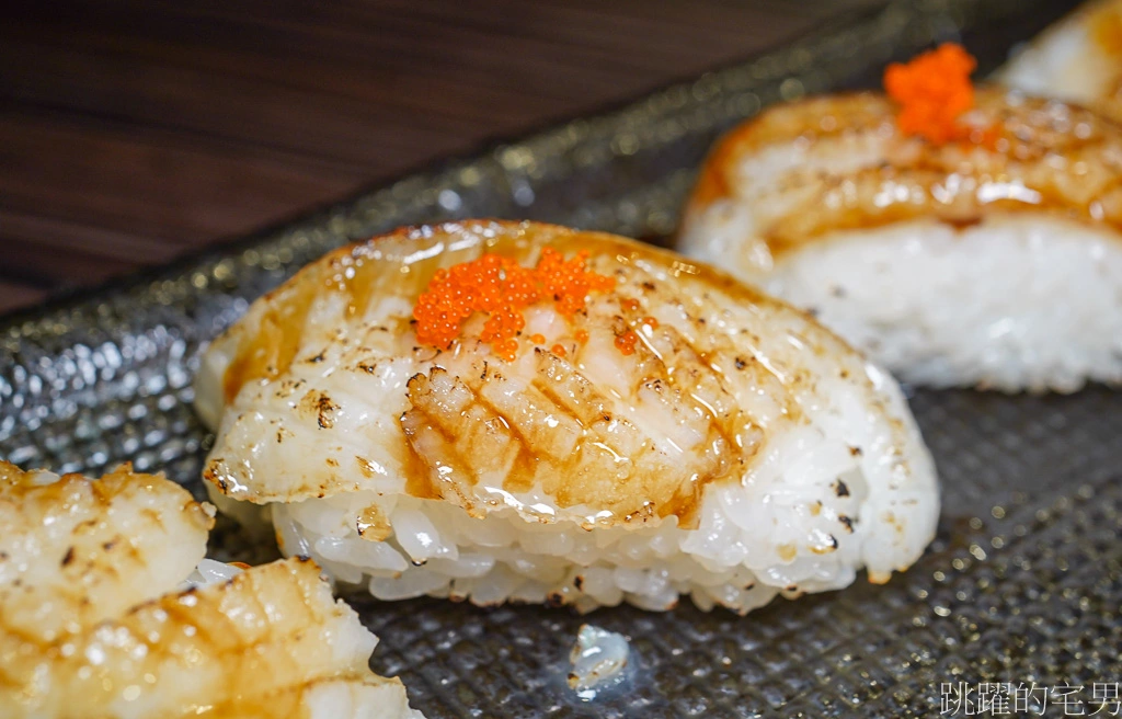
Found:
[{"label": "brown-glazed seared topping on the blurred right-hand sushi, excluding roe", "polygon": [[1048,212],[1122,228],[1122,128],[1057,101],[976,92],[965,138],[901,135],[879,93],[778,105],[714,149],[686,225],[724,202],[752,204],[772,254],[835,230],[920,218],[969,225],[990,213]]}]

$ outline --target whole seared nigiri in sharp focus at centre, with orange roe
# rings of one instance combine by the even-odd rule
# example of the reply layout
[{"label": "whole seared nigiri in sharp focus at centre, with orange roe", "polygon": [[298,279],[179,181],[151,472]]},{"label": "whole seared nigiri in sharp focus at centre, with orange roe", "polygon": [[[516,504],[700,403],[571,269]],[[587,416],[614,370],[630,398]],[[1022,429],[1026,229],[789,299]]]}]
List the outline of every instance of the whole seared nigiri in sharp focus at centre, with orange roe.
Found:
[{"label": "whole seared nigiri in sharp focus at centre, with orange roe", "polygon": [[554,225],[331,252],[214,341],[196,398],[215,499],[381,599],[746,612],[886,581],[938,515],[891,377],[712,268]]}]

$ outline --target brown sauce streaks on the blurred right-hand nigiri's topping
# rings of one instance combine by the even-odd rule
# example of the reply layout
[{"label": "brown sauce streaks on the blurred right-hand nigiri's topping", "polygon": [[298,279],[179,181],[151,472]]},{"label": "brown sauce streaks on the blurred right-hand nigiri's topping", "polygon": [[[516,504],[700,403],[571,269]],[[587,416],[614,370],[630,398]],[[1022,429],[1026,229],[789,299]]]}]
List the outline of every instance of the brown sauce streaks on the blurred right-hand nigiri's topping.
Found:
[{"label": "brown sauce streaks on the blurred right-hand nigiri's topping", "polygon": [[[999,89],[980,89],[977,98],[972,122],[990,129],[969,140],[936,147],[893,135],[879,166],[837,175],[791,170],[790,182],[820,184],[821,192],[780,216],[765,219],[762,239],[781,255],[837,230],[921,218],[960,230],[983,221],[987,213],[1029,209],[1122,231],[1122,130],[1118,126],[1076,105],[1031,98],[1010,103]],[[701,170],[690,209],[697,212],[735,196],[735,173],[745,156],[769,146],[880,135],[891,125],[892,112],[893,105],[873,93],[817,98],[770,110],[718,142]],[[822,129],[824,117],[831,119],[828,130]],[[1084,129],[1077,132],[1076,126]],[[1057,157],[1065,160],[1061,168],[1051,166]],[[1083,163],[1105,165],[1107,172],[1083,176],[1075,169]],[[959,183],[963,186],[951,190],[957,186],[951,181],[959,179],[973,184]],[[1002,188],[1012,192],[1003,195]],[[836,201],[824,202],[822,195]],[[889,195],[893,196],[885,201]]]}]

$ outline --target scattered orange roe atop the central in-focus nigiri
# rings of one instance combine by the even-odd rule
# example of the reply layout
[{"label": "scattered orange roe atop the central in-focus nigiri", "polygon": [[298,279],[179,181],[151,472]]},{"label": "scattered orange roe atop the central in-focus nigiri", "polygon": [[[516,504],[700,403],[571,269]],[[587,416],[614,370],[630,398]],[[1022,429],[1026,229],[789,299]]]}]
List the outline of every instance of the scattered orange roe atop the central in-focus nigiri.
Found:
[{"label": "scattered orange roe atop the central in-focus nigiri", "polygon": [[460,337],[463,323],[480,312],[488,316],[479,339],[497,356],[513,360],[518,350],[516,338],[526,325],[526,307],[552,299],[561,315],[571,317],[585,308],[589,293],[615,286],[611,277],[585,269],[587,260],[588,252],[567,260],[557,250],[544,248],[533,268],[488,254],[439,269],[413,308],[417,341],[447,350]]}]

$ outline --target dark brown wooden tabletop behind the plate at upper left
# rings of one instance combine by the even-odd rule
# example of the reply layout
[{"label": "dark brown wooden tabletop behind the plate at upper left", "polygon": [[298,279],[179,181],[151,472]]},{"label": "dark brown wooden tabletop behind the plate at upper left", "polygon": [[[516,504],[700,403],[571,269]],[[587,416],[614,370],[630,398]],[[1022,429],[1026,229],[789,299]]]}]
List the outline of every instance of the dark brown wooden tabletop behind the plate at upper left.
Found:
[{"label": "dark brown wooden tabletop behind the plate at upper left", "polygon": [[0,312],[876,0],[90,0],[0,20]]}]

